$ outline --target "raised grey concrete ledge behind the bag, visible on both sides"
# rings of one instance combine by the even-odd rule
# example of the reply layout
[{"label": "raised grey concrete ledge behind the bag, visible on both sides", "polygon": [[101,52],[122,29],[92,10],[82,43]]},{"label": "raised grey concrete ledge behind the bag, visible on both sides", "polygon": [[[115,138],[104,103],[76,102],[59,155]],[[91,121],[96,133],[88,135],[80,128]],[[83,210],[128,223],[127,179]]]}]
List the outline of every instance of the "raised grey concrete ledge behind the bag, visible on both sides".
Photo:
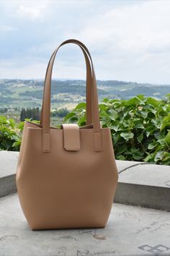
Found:
[{"label": "raised grey concrete ledge behind the bag, visible on both sides", "polygon": [[[0,151],[0,197],[17,191],[19,152]],[[117,161],[119,182],[115,202],[170,211],[170,166]]]}]

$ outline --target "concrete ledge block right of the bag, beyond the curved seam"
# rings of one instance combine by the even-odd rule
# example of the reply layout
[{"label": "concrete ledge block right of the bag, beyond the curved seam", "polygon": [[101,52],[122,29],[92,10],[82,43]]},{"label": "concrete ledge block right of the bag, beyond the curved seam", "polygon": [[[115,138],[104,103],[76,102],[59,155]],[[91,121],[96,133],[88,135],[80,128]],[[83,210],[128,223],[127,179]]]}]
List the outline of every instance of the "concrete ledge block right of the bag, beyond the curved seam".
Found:
[{"label": "concrete ledge block right of the bag, beyond the curved seam", "polygon": [[170,211],[169,199],[170,166],[137,163],[120,171],[115,202]]}]

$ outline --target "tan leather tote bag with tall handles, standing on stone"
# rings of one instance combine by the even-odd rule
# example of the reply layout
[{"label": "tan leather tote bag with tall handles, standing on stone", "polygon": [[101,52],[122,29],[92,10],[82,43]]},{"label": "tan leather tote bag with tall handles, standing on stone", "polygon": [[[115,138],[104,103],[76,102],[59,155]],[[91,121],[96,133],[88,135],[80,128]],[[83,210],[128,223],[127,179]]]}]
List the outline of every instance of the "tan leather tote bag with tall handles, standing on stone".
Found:
[{"label": "tan leather tote bag with tall handles, standing on stone", "polygon": [[[53,62],[66,43],[86,60],[86,126],[50,127]],[[17,164],[19,201],[30,229],[104,228],[117,187],[109,128],[100,127],[97,82],[88,49],[79,40],[56,48],[45,76],[40,124],[24,121]]]}]

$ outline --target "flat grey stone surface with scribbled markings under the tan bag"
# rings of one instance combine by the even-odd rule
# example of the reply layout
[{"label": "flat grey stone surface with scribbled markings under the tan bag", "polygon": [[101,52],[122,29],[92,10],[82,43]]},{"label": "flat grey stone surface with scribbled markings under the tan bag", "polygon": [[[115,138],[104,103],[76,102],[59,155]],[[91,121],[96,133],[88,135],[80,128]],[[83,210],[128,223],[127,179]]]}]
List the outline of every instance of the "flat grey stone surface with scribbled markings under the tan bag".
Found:
[{"label": "flat grey stone surface with scribbled markings under the tan bag", "polygon": [[0,199],[0,256],[170,255],[170,213],[114,204],[105,229],[31,231],[16,195]]}]

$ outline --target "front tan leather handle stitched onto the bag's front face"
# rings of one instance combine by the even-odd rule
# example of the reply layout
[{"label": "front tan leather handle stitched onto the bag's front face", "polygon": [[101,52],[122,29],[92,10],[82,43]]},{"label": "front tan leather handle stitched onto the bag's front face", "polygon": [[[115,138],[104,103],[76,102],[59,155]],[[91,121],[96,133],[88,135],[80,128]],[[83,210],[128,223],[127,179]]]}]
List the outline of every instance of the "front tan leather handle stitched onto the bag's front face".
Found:
[{"label": "front tan leather handle stitched onto the bag's front face", "polygon": [[[102,150],[102,136],[99,122],[99,107],[98,107],[98,95],[97,95],[97,81],[94,72],[94,66],[91,59],[91,55],[89,50],[81,43],[79,40],[70,39],[61,43],[58,48],[53,52],[52,57],[48,63],[48,69],[45,77],[45,86],[44,86],[44,98],[43,98],[43,109],[42,109],[42,151],[50,152],[50,84],[51,84],[51,76],[53,71],[53,63],[55,60],[55,55],[58,52],[58,49],[67,44],[67,43],[75,43],[77,44],[81,50],[82,48],[86,51],[86,54],[89,56],[89,60],[91,61],[91,87],[92,87],[92,117],[93,117],[93,129],[94,129],[94,150],[101,151]],[[89,77],[88,77],[89,78]]]}]

